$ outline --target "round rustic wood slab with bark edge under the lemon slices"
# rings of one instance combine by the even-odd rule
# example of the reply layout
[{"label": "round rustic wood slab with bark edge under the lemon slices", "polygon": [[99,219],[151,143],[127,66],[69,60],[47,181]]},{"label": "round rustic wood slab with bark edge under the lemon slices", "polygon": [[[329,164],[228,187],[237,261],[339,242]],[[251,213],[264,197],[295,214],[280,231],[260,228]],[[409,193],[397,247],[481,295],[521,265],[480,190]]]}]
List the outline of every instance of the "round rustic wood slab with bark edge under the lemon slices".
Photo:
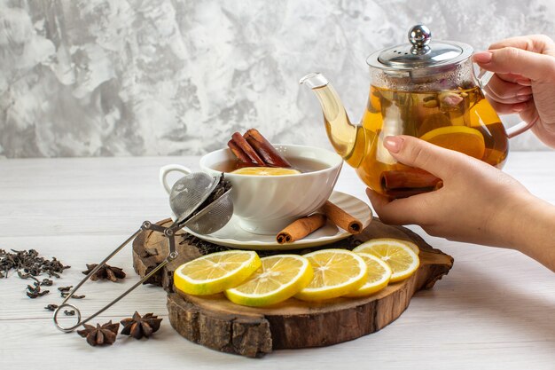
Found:
[{"label": "round rustic wood slab with bark edge under the lemon slices", "polygon": [[[158,224],[168,225],[170,219]],[[214,350],[261,357],[272,350],[327,346],[374,333],[397,319],[420,289],[434,287],[447,274],[453,258],[434,249],[416,233],[401,226],[382,224],[374,218],[360,234],[319,248],[355,248],[375,238],[410,240],[420,248],[420,266],[409,279],[390,284],[375,295],[337,298],[308,303],[290,298],[272,307],[252,308],[228,301],[223,294],[185,295],[174,291],[173,271],[180,264],[203,254],[230,249],[198,240],[192,235],[177,238],[179,257],[149,281],[168,291],[169,321],[192,342]],[[133,265],[140,276],[152,271],[168,255],[167,240],[160,232],[141,232],[133,242]],[[309,250],[293,251],[304,254]],[[259,252],[261,256],[282,252]]]}]

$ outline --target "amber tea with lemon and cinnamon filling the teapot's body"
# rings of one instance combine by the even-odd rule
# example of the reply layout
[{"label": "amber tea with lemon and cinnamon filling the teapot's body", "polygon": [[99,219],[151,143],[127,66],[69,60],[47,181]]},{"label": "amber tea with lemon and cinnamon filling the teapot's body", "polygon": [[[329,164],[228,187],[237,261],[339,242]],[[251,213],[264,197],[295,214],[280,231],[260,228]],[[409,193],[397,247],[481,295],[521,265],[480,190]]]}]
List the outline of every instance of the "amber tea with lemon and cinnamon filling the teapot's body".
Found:
[{"label": "amber tea with lemon and cinnamon filling the teapot's body", "polygon": [[390,91],[372,85],[362,130],[365,143],[354,147],[364,153],[357,172],[372,189],[392,198],[434,190],[438,179],[395,161],[383,146],[387,136],[414,136],[499,168],[508,152],[504,126],[478,86]]}]

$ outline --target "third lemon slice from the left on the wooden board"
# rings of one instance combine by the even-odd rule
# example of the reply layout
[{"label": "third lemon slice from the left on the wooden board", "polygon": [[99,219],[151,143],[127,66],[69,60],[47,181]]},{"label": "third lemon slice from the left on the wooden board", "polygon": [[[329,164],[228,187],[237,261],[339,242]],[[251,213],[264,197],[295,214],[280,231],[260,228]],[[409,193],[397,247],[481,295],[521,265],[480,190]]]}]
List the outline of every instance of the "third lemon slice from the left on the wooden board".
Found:
[{"label": "third lemon slice from the left on the wooden board", "polygon": [[366,282],[368,267],[363,257],[345,249],[321,249],[304,255],[314,269],[310,284],[297,293],[303,301],[320,301],[347,295]]}]

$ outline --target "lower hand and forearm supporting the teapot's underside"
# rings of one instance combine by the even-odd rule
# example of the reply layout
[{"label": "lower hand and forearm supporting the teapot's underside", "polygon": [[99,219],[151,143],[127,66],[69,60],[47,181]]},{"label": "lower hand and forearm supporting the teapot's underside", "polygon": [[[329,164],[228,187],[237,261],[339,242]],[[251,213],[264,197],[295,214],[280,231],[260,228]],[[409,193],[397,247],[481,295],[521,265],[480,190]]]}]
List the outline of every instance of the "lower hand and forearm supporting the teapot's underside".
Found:
[{"label": "lower hand and forearm supporting the teapot's underside", "polygon": [[409,136],[387,137],[397,161],[443,180],[431,193],[390,201],[366,193],[386,224],[419,224],[449,240],[514,248],[555,272],[555,206],[530,194],[499,169]]}]

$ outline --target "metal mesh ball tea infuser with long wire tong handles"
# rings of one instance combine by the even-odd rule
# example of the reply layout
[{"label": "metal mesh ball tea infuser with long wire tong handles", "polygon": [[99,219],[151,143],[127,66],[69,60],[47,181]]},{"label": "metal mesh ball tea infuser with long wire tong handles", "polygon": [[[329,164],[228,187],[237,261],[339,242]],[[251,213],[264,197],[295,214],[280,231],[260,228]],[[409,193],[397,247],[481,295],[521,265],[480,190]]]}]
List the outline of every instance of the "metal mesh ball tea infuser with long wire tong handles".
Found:
[{"label": "metal mesh ball tea infuser with long wire tong handles", "polygon": [[[53,320],[56,327],[66,333],[74,331],[77,327],[81,327],[83,324],[89,322],[90,319],[96,318],[100,313],[112,307],[113,304],[118,303],[121,298],[128,295],[147,279],[150,279],[152,275],[160,271],[162,267],[175,260],[178,256],[176,251],[176,232],[180,229],[188,227],[193,232],[209,234],[220,230],[227,224],[233,215],[233,203],[231,202],[231,185],[222,186],[224,182],[223,176],[220,178],[211,177],[203,172],[192,172],[177,180],[176,184],[172,187],[169,197],[170,208],[174,212],[174,215],[178,215],[176,216],[175,222],[168,227],[161,226],[160,224],[152,224],[150,221],[145,221],[141,224],[137,232],[134,232],[133,235],[121,243],[118,248],[115,248],[109,256],[106,256],[106,258],[92,269],[66,296],[64,301],[54,311]],[[221,194],[219,196],[216,195],[215,199],[210,201],[209,197],[213,195],[214,198],[215,193]],[[205,205],[206,202],[208,202],[208,204]],[[194,213],[195,211],[197,212]],[[127,246],[131,240],[134,240],[140,232],[144,231],[161,232],[164,234],[168,239],[168,256],[166,256],[166,258],[151,272],[147,273],[144,278],[137,281],[136,284],[129,287],[129,289],[115,298],[112,302],[106,304],[106,306],[90,315],[87,319],[82,319],[81,311],[74,304],[67,303],[67,301],[71,299],[77,290],[79,290],[92,275],[97,273],[106,262],[115,256],[122,248]],[[58,320],[60,310],[66,307],[71,308],[77,314],[77,324],[72,327],[62,327]]]}]

